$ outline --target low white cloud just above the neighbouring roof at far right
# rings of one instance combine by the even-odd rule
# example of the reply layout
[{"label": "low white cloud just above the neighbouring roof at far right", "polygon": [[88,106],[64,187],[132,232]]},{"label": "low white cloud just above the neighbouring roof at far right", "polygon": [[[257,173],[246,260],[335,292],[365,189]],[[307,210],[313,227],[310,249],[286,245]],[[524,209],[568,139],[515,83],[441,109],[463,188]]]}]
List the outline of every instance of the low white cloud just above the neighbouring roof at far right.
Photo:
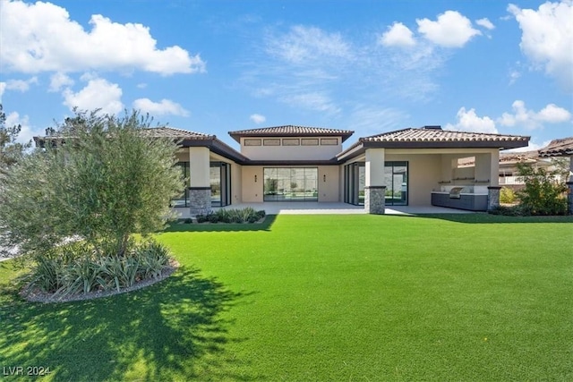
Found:
[{"label": "low white cloud just above the neighbouring roof at far right", "polygon": [[528,110],[526,103],[517,99],[512,105],[513,113],[503,113],[498,123],[503,126],[518,126],[529,130],[543,127],[543,123],[566,123],[571,120],[568,110],[549,104],[539,112]]}]

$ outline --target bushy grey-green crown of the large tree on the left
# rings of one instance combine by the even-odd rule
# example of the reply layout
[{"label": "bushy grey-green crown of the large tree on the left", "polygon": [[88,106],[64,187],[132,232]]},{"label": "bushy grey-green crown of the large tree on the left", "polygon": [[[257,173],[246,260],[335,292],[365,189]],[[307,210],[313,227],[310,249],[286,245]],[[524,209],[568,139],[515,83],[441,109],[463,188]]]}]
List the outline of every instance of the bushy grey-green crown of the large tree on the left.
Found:
[{"label": "bushy grey-green crown of the large tree on the left", "polygon": [[151,138],[150,119],[76,111],[7,171],[0,193],[2,246],[45,253],[75,237],[117,256],[133,233],[162,229],[181,193],[177,144]]}]

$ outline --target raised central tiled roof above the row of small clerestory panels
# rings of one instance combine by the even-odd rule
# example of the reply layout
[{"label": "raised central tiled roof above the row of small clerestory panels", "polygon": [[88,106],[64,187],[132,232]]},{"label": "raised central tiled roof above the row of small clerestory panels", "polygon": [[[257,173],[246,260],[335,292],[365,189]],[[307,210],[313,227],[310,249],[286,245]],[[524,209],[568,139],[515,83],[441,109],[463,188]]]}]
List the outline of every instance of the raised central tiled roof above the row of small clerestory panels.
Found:
[{"label": "raised central tiled roof above the row of small clerestory panels", "polygon": [[321,127],[285,126],[264,127],[261,129],[239,130],[229,132],[237,142],[241,142],[241,137],[342,137],[342,141],[347,140],[354,132],[350,130],[324,129]]}]

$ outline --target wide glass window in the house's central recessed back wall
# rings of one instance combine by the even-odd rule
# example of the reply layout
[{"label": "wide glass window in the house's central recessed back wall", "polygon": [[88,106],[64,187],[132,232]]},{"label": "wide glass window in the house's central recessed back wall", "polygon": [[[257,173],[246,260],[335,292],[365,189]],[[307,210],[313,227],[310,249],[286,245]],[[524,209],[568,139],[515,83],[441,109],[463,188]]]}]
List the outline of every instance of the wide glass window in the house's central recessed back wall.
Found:
[{"label": "wide glass window in the house's central recessed back wall", "polygon": [[264,201],[318,200],[319,170],[316,167],[264,168]]}]

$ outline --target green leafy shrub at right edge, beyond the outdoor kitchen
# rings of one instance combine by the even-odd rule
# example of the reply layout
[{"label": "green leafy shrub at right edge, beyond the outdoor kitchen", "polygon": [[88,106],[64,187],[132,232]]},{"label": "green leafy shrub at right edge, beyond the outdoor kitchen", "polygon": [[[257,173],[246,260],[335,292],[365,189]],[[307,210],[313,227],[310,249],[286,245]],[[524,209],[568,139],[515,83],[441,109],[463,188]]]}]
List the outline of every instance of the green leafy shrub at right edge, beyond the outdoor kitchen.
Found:
[{"label": "green leafy shrub at right edge, beyond the outdoor kitchen", "polygon": [[567,185],[555,174],[531,164],[517,164],[525,188],[517,191],[521,208],[528,215],[567,215]]}]

